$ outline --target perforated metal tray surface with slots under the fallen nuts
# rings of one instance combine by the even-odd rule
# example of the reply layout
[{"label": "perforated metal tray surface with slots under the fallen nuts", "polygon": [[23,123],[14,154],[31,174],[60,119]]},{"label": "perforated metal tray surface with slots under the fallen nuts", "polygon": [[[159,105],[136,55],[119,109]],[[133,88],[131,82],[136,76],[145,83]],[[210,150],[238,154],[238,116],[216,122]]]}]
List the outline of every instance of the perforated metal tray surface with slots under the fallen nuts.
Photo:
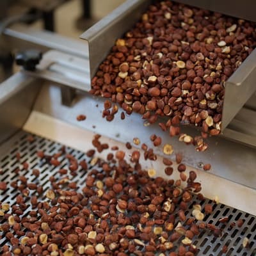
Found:
[{"label": "perforated metal tray surface with slots under the fallen nuts", "polygon": [[[3,174],[0,176],[0,180],[8,182],[8,184],[10,184],[10,182],[12,182],[13,180],[16,180],[18,174],[16,174],[14,170],[19,167],[19,175],[25,175],[28,178],[28,182],[36,182],[37,184],[44,186],[44,191],[46,191],[48,188],[51,187],[49,177],[51,177],[52,175],[54,177],[59,177],[60,174],[58,173],[58,170],[60,170],[60,168],[68,168],[68,161],[67,159],[65,159],[64,156],[60,157],[59,160],[61,161],[61,165],[55,168],[54,166],[45,163],[45,161],[40,160],[38,157],[36,157],[36,152],[38,150],[44,150],[45,154],[52,155],[54,153],[60,152],[60,148],[62,147],[62,145],[54,141],[40,138],[38,136],[34,136],[35,140],[33,142],[29,142],[27,140],[28,135],[29,134],[26,132],[19,132],[19,134],[16,134],[15,138],[12,138],[12,140],[8,141],[8,144],[6,143],[5,145],[3,145],[3,147],[0,147],[0,169],[3,170]],[[66,150],[67,153],[72,154],[78,160],[86,159],[88,160],[88,163],[90,163],[90,159],[85,156],[83,152],[79,152],[68,147],[66,147]],[[19,152],[21,156],[19,162],[17,161],[16,157],[17,152]],[[22,163],[24,162],[29,164],[28,170],[22,169]],[[34,168],[40,170],[39,178],[36,178],[34,175],[29,174]],[[90,166],[89,164],[88,168],[90,169],[92,168],[92,166]],[[93,168],[95,168],[95,166]],[[72,181],[77,182],[78,188],[81,188],[84,186],[85,176],[86,172],[84,172],[84,170],[77,170],[77,176],[72,177],[71,179]],[[32,196],[33,194],[35,194],[35,192],[32,192],[30,196]],[[43,193],[43,195],[44,194],[45,193]],[[1,202],[6,202],[13,205],[15,204],[15,197],[17,195],[19,195],[19,191],[8,186],[8,189],[6,189],[6,191],[2,191],[0,193]],[[38,200],[45,200],[45,197],[42,196],[42,198],[39,198]],[[191,202],[189,206],[189,211],[185,212],[188,218],[191,217],[192,205],[195,204],[195,202],[196,199]],[[211,202],[211,200],[205,200],[205,202],[203,203],[197,203],[200,203],[203,208],[204,204],[207,204],[209,202]],[[255,202],[252,202],[252,204],[254,203]],[[28,209],[26,209],[24,215],[28,215],[29,211],[31,211],[31,207],[28,207]],[[228,216],[229,218],[227,225],[218,222],[218,220],[224,216]],[[230,223],[232,223],[232,221],[237,221],[238,219],[244,220],[243,226],[241,228],[237,228],[236,226],[230,227]],[[0,217],[0,225],[1,223],[3,223],[3,221],[3,217]],[[198,237],[193,239],[193,244],[195,244],[196,247],[198,247],[200,250],[197,255],[223,255],[221,249],[225,245],[227,245],[228,247],[228,252],[225,255],[256,255],[255,216],[252,216],[243,211],[239,211],[232,207],[228,207],[227,205],[215,204],[214,211],[212,212],[210,217],[205,216],[205,221],[207,223],[218,225],[218,227],[223,229],[223,232],[221,237],[216,238],[212,236],[211,230],[205,230],[201,232]],[[175,225],[177,225],[177,223],[175,223]],[[1,247],[3,246],[3,244],[8,244],[8,241],[6,241],[3,232],[0,235],[2,236],[2,239],[0,239],[1,253]],[[243,248],[242,243],[244,237],[248,237],[250,241],[248,248]],[[177,244],[180,244],[180,241],[175,242],[175,246],[177,246]]]}]

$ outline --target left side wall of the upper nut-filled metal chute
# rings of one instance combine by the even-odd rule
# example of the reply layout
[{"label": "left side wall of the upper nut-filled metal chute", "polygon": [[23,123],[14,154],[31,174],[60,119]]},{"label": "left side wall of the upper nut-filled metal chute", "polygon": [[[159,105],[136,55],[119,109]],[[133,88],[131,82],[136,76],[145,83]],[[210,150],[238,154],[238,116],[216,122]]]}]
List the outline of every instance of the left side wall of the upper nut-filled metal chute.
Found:
[{"label": "left side wall of the upper nut-filled metal chute", "polygon": [[121,4],[109,15],[86,30],[80,37],[88,41],[90,51],[90,77],[95,74],[99,63],[104,60],[115,44],[116,38],[122,36],[140,19],[147,0],[129,0]]}]

